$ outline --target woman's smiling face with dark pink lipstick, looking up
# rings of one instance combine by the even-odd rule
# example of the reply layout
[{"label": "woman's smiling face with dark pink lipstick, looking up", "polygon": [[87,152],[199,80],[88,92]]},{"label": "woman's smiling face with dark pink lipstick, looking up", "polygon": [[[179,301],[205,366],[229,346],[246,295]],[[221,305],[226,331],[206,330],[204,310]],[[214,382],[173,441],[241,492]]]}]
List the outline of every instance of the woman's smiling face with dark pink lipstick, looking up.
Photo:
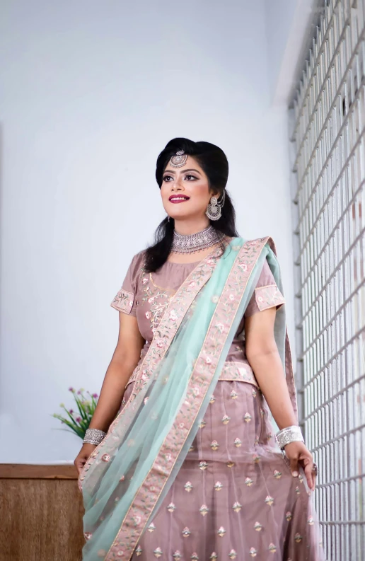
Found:
[{"label": "woman's smiling face with dark pink lipstick, looking up", "polygon": [[181,168],[168,163],[163,172],[161,197],[163,208],[173,219],[204,216],[212,193],[207,175],[192,156],[187,156]]}]

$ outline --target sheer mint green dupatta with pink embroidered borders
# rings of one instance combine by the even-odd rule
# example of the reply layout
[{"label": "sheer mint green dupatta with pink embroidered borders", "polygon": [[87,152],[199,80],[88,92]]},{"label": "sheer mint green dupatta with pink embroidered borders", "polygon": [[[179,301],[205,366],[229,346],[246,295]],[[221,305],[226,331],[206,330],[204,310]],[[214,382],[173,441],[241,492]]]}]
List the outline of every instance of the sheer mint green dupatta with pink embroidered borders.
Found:
[{"label": "sheer mint green dupatta with pink embroidered borders", "polygon": [[[132,557],[197,434],[265,259],[281,288],[270,243],[233,238],[224,255],[203,260],[175,294],[132,395],[80,475],[83,561]],[[285,365],[283,313],[275,337]]]}]

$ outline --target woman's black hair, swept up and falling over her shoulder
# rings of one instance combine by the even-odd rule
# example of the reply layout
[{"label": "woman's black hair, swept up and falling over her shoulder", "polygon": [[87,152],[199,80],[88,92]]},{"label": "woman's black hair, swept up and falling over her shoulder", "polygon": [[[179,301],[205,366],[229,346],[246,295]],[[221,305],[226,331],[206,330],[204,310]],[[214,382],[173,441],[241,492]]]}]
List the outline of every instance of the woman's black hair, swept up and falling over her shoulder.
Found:
[{"label": "woman's black hair, swept up and falling over her shoulder", "polygon": [[[163,172],[166,169],[171,156],[176,154],[178,150],[185,151],[185,154],[192,156],[209,181],[209,188],[214,195],[220,196],[226,189],[228,180],[228,160],[224,151],[210,142],[194,142],[185,138],[175,138],[166,144],[165,149],[159,154],[156,163],[156,181],[161,189],[163,181]],[[226,236],[236,237],[236,213],[228,192],[225,191],[224,206],[221,209],[221,218],[219,220],[210,221],[214,229],[223,232]],[[156,272],[166,262],[170,254],[171,245],[173,243],[173,231],[175,228],[175,220],[168,218],[158,224],[154,235],[153,245],[146,249],[146,272]],[[224,245],[222,245],[222,249]]]}]

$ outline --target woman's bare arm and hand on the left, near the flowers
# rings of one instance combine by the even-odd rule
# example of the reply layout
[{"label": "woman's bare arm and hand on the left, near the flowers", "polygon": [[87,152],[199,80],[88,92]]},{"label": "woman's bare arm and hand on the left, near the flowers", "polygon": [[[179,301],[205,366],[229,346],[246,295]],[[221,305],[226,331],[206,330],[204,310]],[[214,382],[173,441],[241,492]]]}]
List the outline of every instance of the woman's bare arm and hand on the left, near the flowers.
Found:
[{"label": "woman's bare arm and hand on the left, near the flowers", "polygon": [[[141,349],[144,347],[144,338],[139,332],[135,316],[120,312],[119,323],[117,347],[106,371],[98,405],[89,427],[104,432],[108,432],[110,424],[120,410],[125,386],[139,362]],[[93,444],[83,444],[74,461],[79,473],[94,449]]]}]

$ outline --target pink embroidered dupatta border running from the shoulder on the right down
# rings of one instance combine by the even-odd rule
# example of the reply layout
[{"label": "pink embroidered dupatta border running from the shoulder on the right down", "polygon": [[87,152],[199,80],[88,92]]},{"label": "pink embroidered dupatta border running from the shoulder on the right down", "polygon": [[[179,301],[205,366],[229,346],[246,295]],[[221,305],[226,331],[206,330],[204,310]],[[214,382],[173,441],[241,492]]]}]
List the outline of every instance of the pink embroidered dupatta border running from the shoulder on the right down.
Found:
[{"label": "pink embroidered dupatta border running from the shoulder on the right down", "polygon": [[[158,497],[161,495],[175,462],[178,460],[192,425],[197,419],[248,279],[250,279],[257,258],[269,240],[269,237],[265,237],[246,241],[238,251],[209,323],[202,349],[195,361],[185,401],[175,417],[172,429],[163,441],[151,470],[134,496],[104,561],[115,561],[121,557],[127,561],[132,557],[139,537],[144,531]],[[135,385],[137,385],[137,382]]]}]

